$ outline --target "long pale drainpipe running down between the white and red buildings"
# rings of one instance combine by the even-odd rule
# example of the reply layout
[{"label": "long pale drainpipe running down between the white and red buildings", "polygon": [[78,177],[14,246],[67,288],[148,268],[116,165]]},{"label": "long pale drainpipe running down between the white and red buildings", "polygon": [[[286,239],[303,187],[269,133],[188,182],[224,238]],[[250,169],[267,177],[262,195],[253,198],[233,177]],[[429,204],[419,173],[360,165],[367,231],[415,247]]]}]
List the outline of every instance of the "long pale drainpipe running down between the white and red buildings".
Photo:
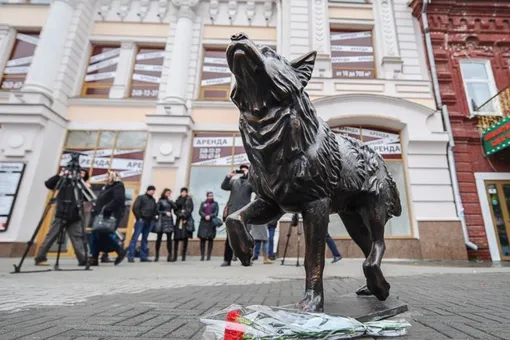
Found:
[{"label": "long pale drainpipe running down between the white and red buildings", "polygon": [[427,19],[427,6],[430,0],[423,0],[422,4],[422,23],[423,23],[423,32],[425,33],[425,45],[427,49],[427,56],[429,58],[430,64],[430,73],[432,76],[432,85],[434,87],[434,97],[436,100],[437,109],[441,110],[443,125],[448,134],[448,150],[447,150],[447,158],[448,158],[448,166],[450,170],[450,179],[452,182],[453,195],[455,200],[455,208],[457,209],[457,216],[460,219],[460,224],[462,226],[462,232],[464,233],[464,243],[466,246],[472,250],[478,250],[478,246],[471,242],[469,239],[469,233],[467,230],[466,217],[464,215],[464,206],[462,205],[462,198],[460,196],[460,188],[459,181],[457,178],[457,167],[455,165],[455,157],[453,154],[453,148],[455,147],[455,141],[453,139],[452,127],[450,124],[450,116],[448,114],[448,108],[446,105],[443,105],[441,100],[441,93],[439,92],[439,80],[437,79],[436,72],[436,62],[434,60],[434,54],[432,50],[432,40],[430,38],[430,29],[429,23]]}]

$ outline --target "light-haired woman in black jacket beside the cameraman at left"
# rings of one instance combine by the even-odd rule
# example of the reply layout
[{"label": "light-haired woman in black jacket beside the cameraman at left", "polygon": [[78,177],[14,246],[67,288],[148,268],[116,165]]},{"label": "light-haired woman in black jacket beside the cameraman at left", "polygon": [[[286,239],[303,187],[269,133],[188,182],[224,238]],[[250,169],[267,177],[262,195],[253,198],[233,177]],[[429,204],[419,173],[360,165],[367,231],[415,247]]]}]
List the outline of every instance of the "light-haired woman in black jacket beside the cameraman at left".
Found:
[{"label": "light-haired woman in black jacket beside the cameraman at left", "polygon": [[[109,171],[106,179],[106,185],[101,189],[96,203],[94,204],[92,218],[95,218],[101,213],[105,218],[113,216],[117,221],[116,228],[118,228],[126,209],[125,200],[126,188],[124,187],[124,183],[122,183],[117,172]],[[124,260],[124,257],[126,257],[127,251],[120,245],[120,240],[115,232],[104,234],[93,231],[91,240],[91,266],[98,265],[100,252],[108,253],[110,251],[115,251],[117,253],[115,265],[121,263],[122,260]]]}]

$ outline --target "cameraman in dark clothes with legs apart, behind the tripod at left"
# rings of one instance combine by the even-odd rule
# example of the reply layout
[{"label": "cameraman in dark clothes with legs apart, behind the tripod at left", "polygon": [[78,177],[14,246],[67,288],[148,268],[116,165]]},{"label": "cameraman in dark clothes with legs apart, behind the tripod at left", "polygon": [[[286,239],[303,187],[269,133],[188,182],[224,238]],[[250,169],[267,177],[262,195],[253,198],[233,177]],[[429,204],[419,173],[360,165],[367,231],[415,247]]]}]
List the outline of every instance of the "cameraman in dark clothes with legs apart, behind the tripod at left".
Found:
[{"label": "cameraman in dark clothes with legs apart, behind the tripod at left", "polygon": [[[71,239],[76,258],[78,259],[78,265],[84,266],[87,262],[80,212],[78,211],[76,198],[74,196],[74,188],[70,178],[71,172],[69,170],[62,170],[58,175],[50,177],[44,185],[49,190],[55,190],[63,176],[65,176],[62,179],[64,183],[57,195],[55,218],[51,224],[50,231],[39,249],[39,253],[35,257],[36,266],[48,266],[46,255],[53,243],[57,240],[58,233],[62,228],[66,228],[67,235],[69,235]],[[85,182],[89,178],[88,172],[84,169],[80,170],[80,176]]]}]

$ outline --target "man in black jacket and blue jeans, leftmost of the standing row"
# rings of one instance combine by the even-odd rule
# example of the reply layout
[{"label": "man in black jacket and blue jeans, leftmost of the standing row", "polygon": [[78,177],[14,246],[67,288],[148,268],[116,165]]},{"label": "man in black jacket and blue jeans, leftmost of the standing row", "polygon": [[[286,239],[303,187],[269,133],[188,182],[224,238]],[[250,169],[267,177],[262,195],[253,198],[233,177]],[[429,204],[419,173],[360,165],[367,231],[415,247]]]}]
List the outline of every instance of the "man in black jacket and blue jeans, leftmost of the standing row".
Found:
[{"label": "man in black jacket and blue jeans, leftmost of the standing row", "polygon": [[153,185],[147,187],[145,195],[136,198],[133,205],[133,214],[135,215],[135,230],[128,248],[128,262],[135,262],[135,247],[140,234],[142,235],[142,244],[140,248],[140,262],[152,262],[149,260],[148,237],[152,229],[152,223],[157,216],[157,204],[154,199],[156,188]]}]

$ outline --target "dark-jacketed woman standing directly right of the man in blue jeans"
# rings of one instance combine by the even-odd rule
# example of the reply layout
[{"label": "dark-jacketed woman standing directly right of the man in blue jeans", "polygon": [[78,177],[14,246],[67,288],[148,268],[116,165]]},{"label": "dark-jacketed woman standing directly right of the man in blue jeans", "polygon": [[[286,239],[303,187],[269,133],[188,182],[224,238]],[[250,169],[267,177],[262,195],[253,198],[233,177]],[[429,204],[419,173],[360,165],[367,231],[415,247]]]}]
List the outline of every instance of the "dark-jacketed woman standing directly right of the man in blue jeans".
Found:
[{"label": "dark-jacketed woman standing directly right of the man in blue jeans", "polygon": [[163,234],[166,234],[166,250],[168,251],[167,262],[172,262],[172,234],[174,232],[174,218],[172,211],[177,209],[174,201],[170,199],[172,196],[172,190],[165,189],[161,194],[158,201],[158,221],[153,229],[158,235],[156,239],[156,257],[154,262],[159,260],[159,250],[161,249],[161,241],[163,240]]}]

